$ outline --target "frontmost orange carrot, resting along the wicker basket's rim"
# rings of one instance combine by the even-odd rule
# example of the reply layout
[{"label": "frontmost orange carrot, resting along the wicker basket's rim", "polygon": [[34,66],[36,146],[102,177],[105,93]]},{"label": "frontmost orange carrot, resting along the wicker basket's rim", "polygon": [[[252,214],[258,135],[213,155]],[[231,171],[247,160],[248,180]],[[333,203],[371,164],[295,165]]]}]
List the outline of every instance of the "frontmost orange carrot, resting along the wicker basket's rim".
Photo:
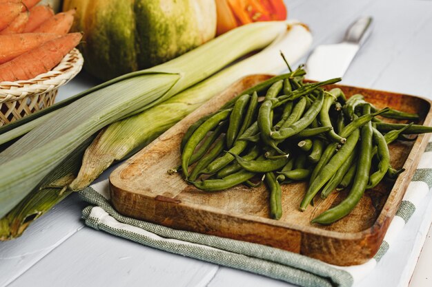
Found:
[{"label": "frontmost orange carrot, resting along the wicker basket's rim", "polygon": [[66,34],[1,64],[0,82],[29,80],[48,72],[78,45],[81,38],[81,33]]}]

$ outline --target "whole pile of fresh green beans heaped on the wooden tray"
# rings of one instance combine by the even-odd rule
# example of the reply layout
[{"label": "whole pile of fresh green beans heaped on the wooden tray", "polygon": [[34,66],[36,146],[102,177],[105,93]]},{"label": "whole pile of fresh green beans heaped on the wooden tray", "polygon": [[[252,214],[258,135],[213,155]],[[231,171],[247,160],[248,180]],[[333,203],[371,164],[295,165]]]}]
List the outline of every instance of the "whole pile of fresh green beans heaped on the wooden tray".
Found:
[{"label": "whole pile of fresh green beans heaped on the wooden tray", "polygon": [[325,199],[351,186],[340,204],[312,220],[331,224],[351,213],[366,189],[402,173],[390,165],[391,142],[411,140],[403,134],[432,132],[413,123],[385,123],[375,117],[420,117],[377,109],[361,94],[346,99],[340,88],[323,88],[340,78],[305,83],[305,74],[300,66],[271,78],[197,120],[181,141],[186,181],[208,192],[265,182],[269,215],[276,220],[282,217],[282,184],[309,182],[301,211],[318,193]]}]

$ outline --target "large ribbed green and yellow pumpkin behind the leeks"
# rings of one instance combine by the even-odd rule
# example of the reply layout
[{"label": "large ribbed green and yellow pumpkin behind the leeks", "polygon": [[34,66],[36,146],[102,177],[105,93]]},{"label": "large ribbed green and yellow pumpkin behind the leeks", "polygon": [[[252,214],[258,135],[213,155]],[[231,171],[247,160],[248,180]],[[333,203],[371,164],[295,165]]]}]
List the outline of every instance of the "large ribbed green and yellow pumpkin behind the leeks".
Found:
[{"label": "large ribbed green and yellow pumpkin behind the leeks", "polygon": [[214,0],[65,0],[84,32],[84,67],[102,80],[153,67],[213,39]]}]

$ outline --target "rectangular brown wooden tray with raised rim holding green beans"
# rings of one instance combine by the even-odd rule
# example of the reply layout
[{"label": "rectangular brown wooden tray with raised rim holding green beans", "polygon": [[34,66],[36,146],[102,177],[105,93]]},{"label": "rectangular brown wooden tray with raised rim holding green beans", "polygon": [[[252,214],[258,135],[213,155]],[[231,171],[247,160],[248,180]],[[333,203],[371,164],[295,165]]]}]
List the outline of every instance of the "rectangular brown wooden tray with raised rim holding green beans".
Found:
[{"label": "rectangular brown wooden tray with raised rim holding green beans", "polygon": [[[333,193],[326,200],[318,195],[315,206],[301,212],[298,206],[306,182],[284,185],[283,216],[281,220],[272,220],[268,216],[268,191],[264,185],[255,189],[241,185],[228,191],[204,193],[186,184],[179,174],[168,175],[168,169],[179,165],[179,142],[191,124],[269,77],[249,76],[235,83],[113,171],[112,204],[121,214],[177,229],[266,244],[340,266],[366,262],[380,247],[429,135],[419,136],[415,142],[392,144],[391,164],[397,169],[403,166],[406,169],[403,175],[394,184],[384,182],[366,191],[350,215],[330,226],[311,224],[310,220],[343,200],[347,191]],[[417,112],[420,123],[432,123],[428,100],[344,85],[334,87],[343,89],[347,96],[363,94],[377,107]]]}]

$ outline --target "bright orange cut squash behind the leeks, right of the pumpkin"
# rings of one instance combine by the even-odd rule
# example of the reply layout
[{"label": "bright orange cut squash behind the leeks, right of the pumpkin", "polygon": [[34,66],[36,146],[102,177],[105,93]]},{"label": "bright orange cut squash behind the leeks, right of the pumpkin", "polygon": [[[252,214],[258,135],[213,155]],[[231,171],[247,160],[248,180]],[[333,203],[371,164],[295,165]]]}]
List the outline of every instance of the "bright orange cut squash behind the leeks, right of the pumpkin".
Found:
[{"label": "bright orange cut squash behind the leeks, right of the pumpkin", "polygon": [[283,0],[216,0],[217,34],[257,21],[286,19]]}]

